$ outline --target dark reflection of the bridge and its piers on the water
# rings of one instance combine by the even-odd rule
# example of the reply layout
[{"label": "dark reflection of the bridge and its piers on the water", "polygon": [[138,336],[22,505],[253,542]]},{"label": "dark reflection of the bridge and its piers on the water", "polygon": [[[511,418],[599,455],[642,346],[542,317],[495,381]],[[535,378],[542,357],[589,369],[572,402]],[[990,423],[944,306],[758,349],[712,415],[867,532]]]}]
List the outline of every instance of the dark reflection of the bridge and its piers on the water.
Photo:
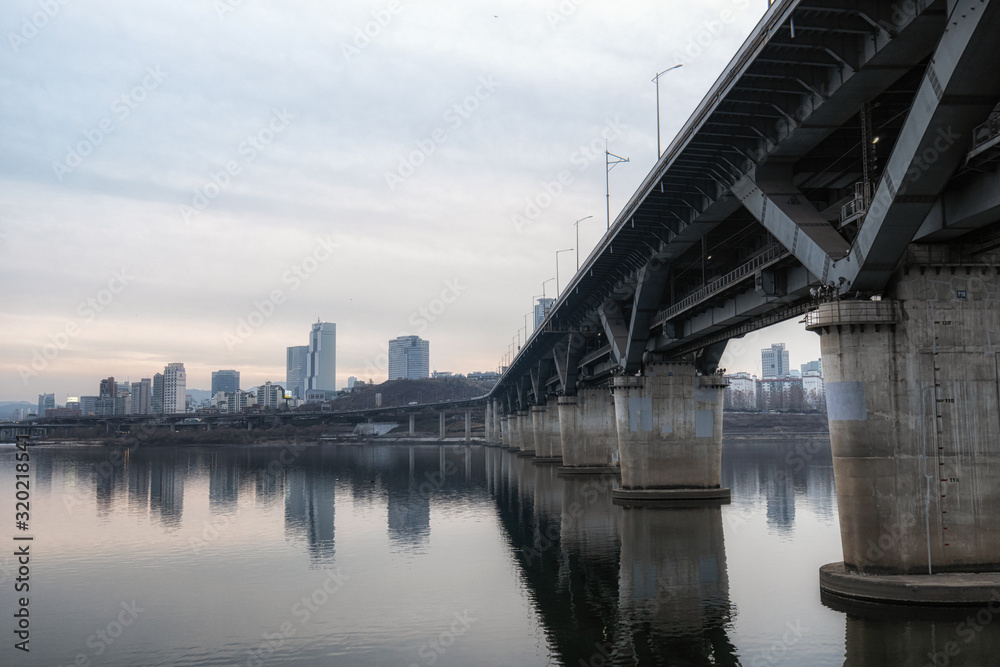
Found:
[{"label": "dark reflection of the bridge and its piers on the water", "polygon": [[719,507],[622,508],[613,475],[489,450],[489,487],[565,665],[737,665]]}]

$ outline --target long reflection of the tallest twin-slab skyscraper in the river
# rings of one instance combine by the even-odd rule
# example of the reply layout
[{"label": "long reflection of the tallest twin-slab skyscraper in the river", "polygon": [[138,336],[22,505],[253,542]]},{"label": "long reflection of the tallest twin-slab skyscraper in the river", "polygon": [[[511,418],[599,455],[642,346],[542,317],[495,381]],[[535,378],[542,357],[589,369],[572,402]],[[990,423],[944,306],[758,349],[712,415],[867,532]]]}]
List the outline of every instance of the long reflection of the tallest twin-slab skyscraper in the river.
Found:
[{"label": "long reflection of the tallest twin-slab skyscraper in the river", "polygon": [[285,479],[285,533],[304,538],[313,563],[334,557],[335,470],[324,465],[322,448],[301,454]]}]

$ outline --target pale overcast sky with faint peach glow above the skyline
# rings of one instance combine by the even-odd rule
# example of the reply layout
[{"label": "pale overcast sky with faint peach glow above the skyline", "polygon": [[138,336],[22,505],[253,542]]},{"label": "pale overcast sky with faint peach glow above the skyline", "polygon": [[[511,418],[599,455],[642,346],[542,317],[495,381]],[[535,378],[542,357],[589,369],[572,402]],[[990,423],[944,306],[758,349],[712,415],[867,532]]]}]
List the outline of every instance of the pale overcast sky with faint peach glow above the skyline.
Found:
[{"label": "pale overcast sky with faint peach glow above the skyline", "polygon": [[[384,380],[402,334],[433,369],[495,370],[573,221],[594,216],[581,258],[605,230],[604,138],[631,160],[614,217],[655,161],[653,75],[684,64],[665,146],[766,4],[6,2],[0,400],[175,361],[188,388],[283,382],[317,318],[338,386]],[[723,365],[779,341],[818,357],[791,322]]]}]

